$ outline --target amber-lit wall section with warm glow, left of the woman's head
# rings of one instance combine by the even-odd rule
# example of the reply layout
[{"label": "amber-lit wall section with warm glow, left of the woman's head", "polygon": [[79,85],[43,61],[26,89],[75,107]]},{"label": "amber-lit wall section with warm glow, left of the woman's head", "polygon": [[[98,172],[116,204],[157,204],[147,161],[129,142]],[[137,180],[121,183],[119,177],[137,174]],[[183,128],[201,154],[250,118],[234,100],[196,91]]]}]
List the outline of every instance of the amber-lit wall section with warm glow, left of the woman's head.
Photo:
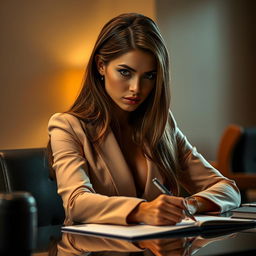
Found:
[{"label": "amber-lit wall section with warm glow, left of the woman's head", "polygon": [[1,0],[0,148],[42,147],[75,99],[102,26],[123,12],[155,19],[154,0]]}]

